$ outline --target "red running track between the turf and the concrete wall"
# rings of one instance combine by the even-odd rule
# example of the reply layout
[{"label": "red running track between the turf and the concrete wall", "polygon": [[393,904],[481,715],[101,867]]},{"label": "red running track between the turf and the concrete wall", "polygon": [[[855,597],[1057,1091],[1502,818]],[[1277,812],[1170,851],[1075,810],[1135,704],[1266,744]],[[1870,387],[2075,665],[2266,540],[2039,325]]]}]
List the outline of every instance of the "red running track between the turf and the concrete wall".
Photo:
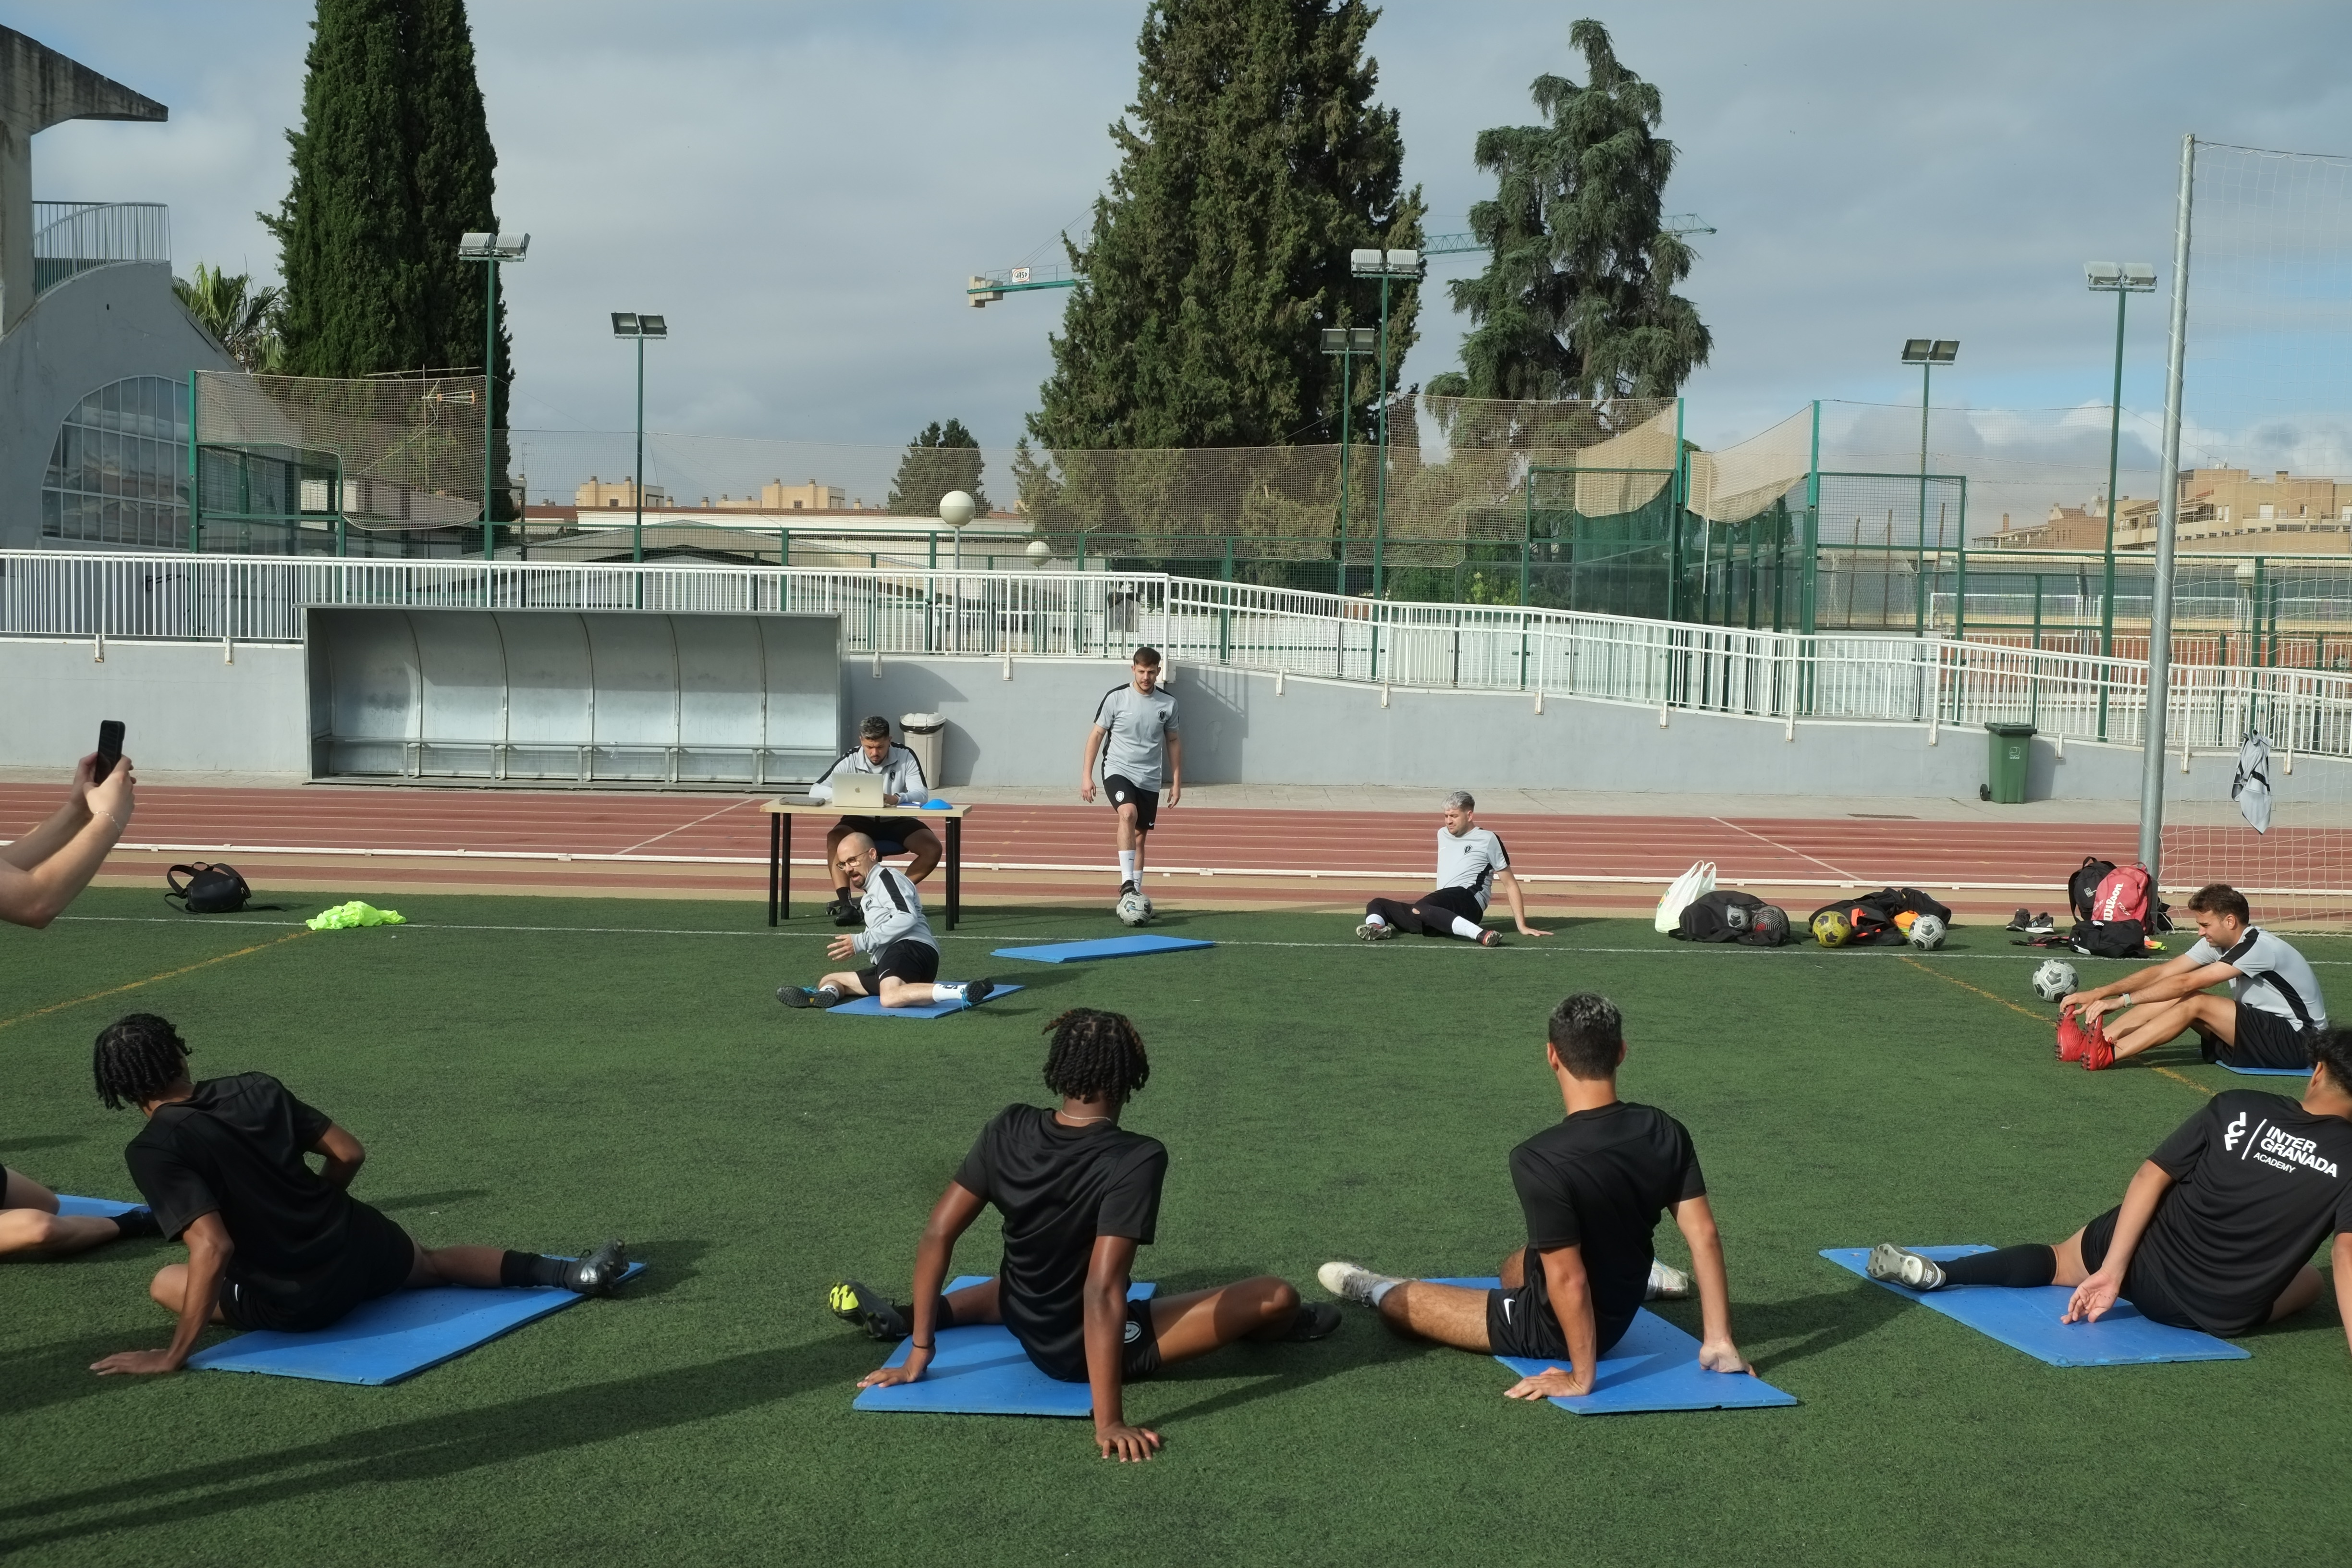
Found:
[{"label": "red running track between the turf and the concrete wall", "polygon": [[[56,806],[52,785],[0,785],[0,835],[16,837]],[[2063,884],[2086,853],[2133,856],[2131,825],[1929,823],[1856,818],[1486,816],[1522,875],[1663,884],[1715,860],[1726,884]],[[2284,830],[2281,830],[2284,832]],[[1221,875],[1322,872],[1411,884],[1435,860],[1437,818],[1397,811],[1169,809],[1150,837],[1155,867]],[[2279,835],[2272,835],[2274,839]],[[2336,837],[2336,835],[2331,835]],[[755,797],[572,795],[508,790],[294,788],[209,790],[148,785],[127,846],[172,853],[374,851],[623,863],[764,860],[767,818]],[[800,858],[814,839],[797,846]],[[1096,872],[1112,865],[1103,806],[976,806],[964,865]]]}]

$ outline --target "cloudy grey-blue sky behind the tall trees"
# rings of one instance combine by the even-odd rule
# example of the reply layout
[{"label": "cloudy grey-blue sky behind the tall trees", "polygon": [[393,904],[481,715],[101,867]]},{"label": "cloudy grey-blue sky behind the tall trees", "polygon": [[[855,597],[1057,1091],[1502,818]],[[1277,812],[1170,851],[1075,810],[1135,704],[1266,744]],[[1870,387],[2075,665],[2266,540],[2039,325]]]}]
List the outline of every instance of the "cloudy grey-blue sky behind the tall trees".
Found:
[{"label": "cloudy grey-blue sky behind the tall trees", "polygon": [[[1432,228],[1461,228],[1484,195],[1472,139],[1534,118],[1529,78],[1581,75],[1566,47],[1578,14],[1388,5],[1371,35],[1381,96],[1402,110]],[[2183,132],[2352,153],[2340,0],[1597,14],[1665,96],[1663,132],[1682,148],[1668,207],[1717,228],[1696,237],[1686,284],[1715,331],[1686,388],[1705,444],[1816,397],[1839,400],[1825,423],[1856,449],[1915,444],[1919,381],[1896,350],[1933,334],[1964,343],[1936,404],[2032,411],[1940,416],[1938,449],[2009,442],[2103,463],[2103,411],[2065,414],[2103,409],[2114,346],[2082,263],[2154,261],[2169,287]],[[252,214],[285,193],[308,16],[299,0],[14,0],[9,26],[172,106],[167,127],[42,134],[35,195],[169,202],[183,270],[273,275]],[[1054,259],[1058,230],[1082,223],[1112,162],[1105,127],[1134,94],[1138,5],[475,0],[473,19],[499,214],[532,233],[529,263],[508,273],[517,425],[626,430],[630,364],[607,313],[637,308],[666,313],[673,334],[652,350],[647,423],[760,442],[753,465],[781,465],[774,444],[795,442],[835,444],[856,470],[849,449],[946,416],[983,444],[1014,440],[1058,296],[971,310],[962,282]],[[2296,174],[2307,179],[2293,195],[2333,202],[2303,242],[2352,249],[2340,174]],[[1449,259],[1437,277],[1470,266]],[[2161,407],[2161,301],[2138,301],[2131,320],[2126,468],[2150,461]],[[1423,322],[1404,381],[1456,362],[1461,317],[1439,306]],[[2258,383],[2239,367],[2211,376],[2204,402],[2192,393],[2209,456],[2263,465],[2263,447],[2352,473],[2352,425],[2326,418],[2352,395],[2298,386],[2281,402]],[[1910,416],[1867,407],[1903,402]],[[550,442],[564,454],[550,465],[590,444]]]}]

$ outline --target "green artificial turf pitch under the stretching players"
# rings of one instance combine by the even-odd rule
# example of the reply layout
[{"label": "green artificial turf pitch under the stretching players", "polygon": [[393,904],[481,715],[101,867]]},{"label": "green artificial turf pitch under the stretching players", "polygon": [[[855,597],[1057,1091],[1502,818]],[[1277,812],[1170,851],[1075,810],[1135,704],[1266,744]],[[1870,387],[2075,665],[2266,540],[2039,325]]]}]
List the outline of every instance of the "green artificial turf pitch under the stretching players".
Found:
[{"label": "green artificial turf pitch under the stretching players", "polygon": [[[771,933],[755,905],[379,903],[412,924],[280,943],[310,903],[186,919],[94,891],[45,933],[0,929],[0,1159],[134,1197],[134,1112],[96,1105],[87,1060],[99,1025],[153,1009],[200,1074],[268,1070],[358,1133],[358,1194],[421,1241],[621,1234],[649,1274],[367,1389],[94,1378],[101,1354],[165,1342],[143,1281],[179,1248],[5,1265],[12,1563],[2039,1568],[2340,1563],[2352,1537],[2352,1356],[2331,1298],[2249,1335],[2251,1361],[2058,1371],[1816,1258],[2058,1239],[2119,1199],[2197,1086],[2293,1088],[2187,1046],[2105,1074],[2056,1065],[2025,985],[2042,954],[1999,931],[1915,959],[1571,922],[1486,952],[1359,945],[1341,917],[1169,914],[1164,931],[1221,945],[1047,969],[985,954],[1115,926],[981,907],[948,976],[1018,969],[1030,990],[906,1023],[779,1009],[774,987],[814,978],[833,929]],[[2307,952],[2343,964],[2352,943]],[[1522,1406],[1489,1359],[1397,1340],[1357,1307],[1324,1342],[1244,1345],[1131,1389],[1129,1418],[1167,1439],[1141,1467],[1101,1462],[1087,1422],[849,1408],[880,1347],[826,1314],[826,1284],[903,1291],[974,1131],[1044,1098],[1040,1027],[1061,1009],[1127,1011],[1152,1053],[1127,1124],[1171,1168],[1138,1274],[1183,1291],[1277,1272],[1319,1295],[1327,1258],[1489,1272],[1519,1239],[1503,1157],[1559,1117],[1543,1018],[1585,987],[1625,1009],[1623,1093],[1696,1135],[1738,1340],[1797,1408]],[[990,1215],[957,1265],[993,1269],[993,1244]],[[1684,1260],[1672,1225],[1661,1253]],[[1696,1305],[1663,1312],[1696,1328]]]}]

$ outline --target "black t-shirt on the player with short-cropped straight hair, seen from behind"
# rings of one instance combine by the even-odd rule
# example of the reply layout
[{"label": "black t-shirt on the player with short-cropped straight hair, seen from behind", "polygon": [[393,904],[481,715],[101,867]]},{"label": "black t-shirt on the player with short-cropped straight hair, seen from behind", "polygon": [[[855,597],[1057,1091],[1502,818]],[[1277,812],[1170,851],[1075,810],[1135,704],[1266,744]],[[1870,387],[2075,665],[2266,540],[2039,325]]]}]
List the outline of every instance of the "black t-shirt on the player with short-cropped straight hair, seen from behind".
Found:
[{"label": "black t-shirt on the player with short-cropped straight hair, seen from behind", "polygon": [[1658,1215],[1705,1197],[1691,1133],[1656,1105],[1581,1110],[1510,1152],[1510,1185],[1526,1244],[1573,1246],[1592,1284],[1592,1316],[1628,1321],[1642,1307]]}]

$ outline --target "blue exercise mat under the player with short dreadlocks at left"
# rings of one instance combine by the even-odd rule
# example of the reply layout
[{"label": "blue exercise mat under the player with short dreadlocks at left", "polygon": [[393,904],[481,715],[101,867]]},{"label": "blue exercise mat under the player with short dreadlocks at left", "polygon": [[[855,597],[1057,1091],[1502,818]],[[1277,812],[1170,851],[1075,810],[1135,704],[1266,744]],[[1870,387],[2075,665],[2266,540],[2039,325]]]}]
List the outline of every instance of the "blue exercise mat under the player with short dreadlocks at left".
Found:
[{"label": "blue exercise mat under the player with short dreadlocks at left", "polygon": [[[642,1272],[644,1265],[633,1262],[623,1279],[635,1279]],[[586,1298],[562,1286],[393,1291],[360,1302],[350,1316],[332,1328],[313,1328],[310,1333],[256,1328],[195,1352],[188,1356],[188,1366],[209,1373],[268,1373],[273,1378],[374,1387],[454,1361],[475,1345],[489,1345],[499,1335],[536,1324],[576,1300]]]}]

